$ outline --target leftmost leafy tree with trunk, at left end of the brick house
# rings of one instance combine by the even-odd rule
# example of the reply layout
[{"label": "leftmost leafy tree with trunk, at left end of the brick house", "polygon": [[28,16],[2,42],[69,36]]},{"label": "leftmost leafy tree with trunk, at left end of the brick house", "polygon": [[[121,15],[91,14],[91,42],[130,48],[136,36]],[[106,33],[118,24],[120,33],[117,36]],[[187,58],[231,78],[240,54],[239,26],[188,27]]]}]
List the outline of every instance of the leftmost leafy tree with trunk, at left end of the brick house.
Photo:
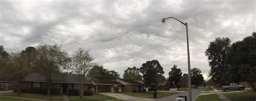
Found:
[{"label": "leftmost leafy tree with trunk, at left end of the brick house", "polygon": [[21,53],[11,53],[8,61],[8,68],[5,68],[6,78],[14,81],[17,85],[17,94],[21,95],[26,76],[28,76],[35,67],[36,49],[27,47]]}]

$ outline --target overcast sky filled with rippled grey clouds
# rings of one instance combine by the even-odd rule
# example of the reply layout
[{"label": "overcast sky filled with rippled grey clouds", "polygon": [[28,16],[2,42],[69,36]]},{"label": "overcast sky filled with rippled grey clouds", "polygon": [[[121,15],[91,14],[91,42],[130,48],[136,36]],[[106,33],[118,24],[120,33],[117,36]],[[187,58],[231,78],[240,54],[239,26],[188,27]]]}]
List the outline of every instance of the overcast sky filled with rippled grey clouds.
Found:
[{"label": "overcast sky filled with rippled grey clouds", "polygon": [[217,37],[232,42],[256,31],[256,1],[0,1],[0,45],[7,52],[59,44],[71,56],[90,49],[95,61],[123,77],[127,67],[158,60],[168,77],[187,73],[188,23],[191,68],[209,72],[205,50]]}]

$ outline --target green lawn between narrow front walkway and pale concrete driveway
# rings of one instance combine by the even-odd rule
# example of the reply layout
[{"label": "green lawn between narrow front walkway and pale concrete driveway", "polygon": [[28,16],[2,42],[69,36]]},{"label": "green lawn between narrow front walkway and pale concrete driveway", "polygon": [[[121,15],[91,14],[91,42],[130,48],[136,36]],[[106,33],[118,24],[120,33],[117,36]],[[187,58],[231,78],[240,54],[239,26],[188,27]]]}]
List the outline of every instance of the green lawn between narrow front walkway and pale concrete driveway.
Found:
[{"label": "green lawn between narrow front walkway and pale concrete driveway", "polygon": [[[113,97],[105,96],[100,93],[93,93],[93,96],[84,96],[83,99],[80,99],[79,96],[69,96],[70,101],[80,101],[80,100],[109,100],[109,99],[116,99]],[[117,99],[119,100],[119,99]]]}]

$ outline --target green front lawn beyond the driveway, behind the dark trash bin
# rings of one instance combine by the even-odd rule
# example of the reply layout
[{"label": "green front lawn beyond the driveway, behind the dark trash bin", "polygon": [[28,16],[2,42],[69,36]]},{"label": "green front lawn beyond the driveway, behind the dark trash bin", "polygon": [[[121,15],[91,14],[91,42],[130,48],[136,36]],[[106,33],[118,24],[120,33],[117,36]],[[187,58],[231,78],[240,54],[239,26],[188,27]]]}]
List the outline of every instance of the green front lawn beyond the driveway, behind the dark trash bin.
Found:
[{"label": "green front lawn beyond the driveway, behind the dark trash bin", "polygon": [[[119,92],[124,95],[134,96],[134,97],[144,97],[144,98],[153,98],[153,92]],[[157,92],[157,98],[171,96],[179,92]]]}]

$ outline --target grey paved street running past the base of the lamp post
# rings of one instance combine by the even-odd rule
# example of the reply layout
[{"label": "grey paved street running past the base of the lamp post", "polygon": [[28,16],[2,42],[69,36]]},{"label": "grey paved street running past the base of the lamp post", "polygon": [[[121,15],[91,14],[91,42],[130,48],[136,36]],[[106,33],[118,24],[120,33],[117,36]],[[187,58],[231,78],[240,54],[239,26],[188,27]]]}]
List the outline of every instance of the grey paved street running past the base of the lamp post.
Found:
[{"label": "grey paved street running past the base of the lamp post", "polygon": [[[202,91],[204,91],[204,88],[192,89],[192,100],[195,100]],[[158,101],[167,101],[167,100],[175,101],[175,98],[177,98],[178,96],[187,96],[187,100],[188,100],[188,91],[177,93],[176,95],[172,95],[172,96],[168,96],[168,97],[164,97],[164,98],[159,98],[157,100]]]}]

